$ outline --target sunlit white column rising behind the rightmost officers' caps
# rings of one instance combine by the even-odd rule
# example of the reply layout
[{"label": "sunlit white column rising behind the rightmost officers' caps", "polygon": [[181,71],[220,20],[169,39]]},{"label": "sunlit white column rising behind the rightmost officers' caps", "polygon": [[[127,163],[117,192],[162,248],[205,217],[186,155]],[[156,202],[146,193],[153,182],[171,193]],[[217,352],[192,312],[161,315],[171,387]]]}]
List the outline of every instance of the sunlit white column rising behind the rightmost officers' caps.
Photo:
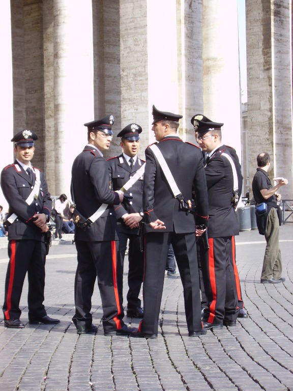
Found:
[{"label": "sunlit white column rising behind the rightmost officers' caps", "polygon": [[235,0],[203,1],[203,113],[223,122],[222,140],[241,159],[241,93]]}]

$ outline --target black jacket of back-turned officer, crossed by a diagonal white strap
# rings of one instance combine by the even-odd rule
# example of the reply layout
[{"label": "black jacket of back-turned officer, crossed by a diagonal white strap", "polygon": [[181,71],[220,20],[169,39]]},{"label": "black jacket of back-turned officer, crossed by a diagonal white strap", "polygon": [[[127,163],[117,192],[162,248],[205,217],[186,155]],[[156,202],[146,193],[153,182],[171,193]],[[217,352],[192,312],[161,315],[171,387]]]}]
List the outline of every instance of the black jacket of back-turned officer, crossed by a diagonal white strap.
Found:
[{"label": "black jacket of back-turned officer, crossed by a diagonal white strap", "polygon": [[[207,224],[208,196],[204,175],[203,158],[198,147],[184,143],[178,136],[164,137],[157,147],[163,154],[183,198],[192,199],[192,189],[196,195],[195,221],[197,225]],[[153,151],[145,150],[146,166],[143,183],[143,209],[147,223],[160,219],[166,230],[153,230],[148,224],[145,232],[195,232],[194,216],[180,209],[174,198],[165,175]]]}]

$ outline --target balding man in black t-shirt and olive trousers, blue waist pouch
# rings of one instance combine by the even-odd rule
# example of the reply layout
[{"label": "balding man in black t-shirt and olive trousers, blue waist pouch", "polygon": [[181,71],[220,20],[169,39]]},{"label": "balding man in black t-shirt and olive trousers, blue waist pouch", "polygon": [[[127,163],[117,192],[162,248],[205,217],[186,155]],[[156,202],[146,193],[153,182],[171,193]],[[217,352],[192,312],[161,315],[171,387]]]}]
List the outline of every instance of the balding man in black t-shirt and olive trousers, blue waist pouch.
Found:
[{"label": "balding man in black t-shirt and olive trousers, blue waist pouch", "polygon": [[258,231],[265,235],[267,247],[263,258],[260,282],[262,284],[278,284],[285,281],[282,277],[282,259],[279,249],[279,218],[277,201],[281,200],[281,194],[276,191],[288,183],[285,178],[275,178],[277,184],[273,187],[269,179],[270,156],[262,152],[257,156],[257,169],[252,180],[252,191],[255,203],[265,203],[267,212],[258,215],[256,221]]}]

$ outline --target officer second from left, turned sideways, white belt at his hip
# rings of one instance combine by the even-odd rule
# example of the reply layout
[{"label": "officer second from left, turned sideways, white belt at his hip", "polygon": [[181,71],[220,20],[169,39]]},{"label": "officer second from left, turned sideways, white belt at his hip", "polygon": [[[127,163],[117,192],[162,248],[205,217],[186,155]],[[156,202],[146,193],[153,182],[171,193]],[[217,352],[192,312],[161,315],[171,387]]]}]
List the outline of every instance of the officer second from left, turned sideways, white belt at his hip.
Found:
[{"label": "officer second from left, turned sideways, white belt at his hip", "polygon": [[[107,116],[84,124],[88,144],[72,165],[71,196],[76,205],[77,249],[75,315],[72,320],[79,334],[97,331],[90,312],[97,277],[103,306],[104,335],[128,335],[133,330],[122,320],[124,312],[120,287],[123,271],[113,208],[123,200],[123,192],[111,190],[109,167],[102,154],[110,147],[113,123],[114,117]],[[103,206],[104,212],[94,217]],[[90,225],[85,227],[84,220]]]}]

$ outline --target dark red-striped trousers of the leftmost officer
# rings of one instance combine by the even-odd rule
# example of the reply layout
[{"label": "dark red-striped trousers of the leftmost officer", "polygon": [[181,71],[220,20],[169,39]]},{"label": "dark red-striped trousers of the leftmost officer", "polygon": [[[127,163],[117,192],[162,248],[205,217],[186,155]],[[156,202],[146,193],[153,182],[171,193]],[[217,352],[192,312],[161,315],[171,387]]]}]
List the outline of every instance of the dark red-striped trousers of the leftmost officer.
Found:
[{"label": "dark red-striped trousers of the leftmost officer", "polygon": [[36,320],[46,315],[43,305],[45,287],[45,244],[36,240],[10,240],[9,264],[5,280],[3,304],[4,319],[19,319],[19,301],[24,278],[28,278],[28,319]]}]

